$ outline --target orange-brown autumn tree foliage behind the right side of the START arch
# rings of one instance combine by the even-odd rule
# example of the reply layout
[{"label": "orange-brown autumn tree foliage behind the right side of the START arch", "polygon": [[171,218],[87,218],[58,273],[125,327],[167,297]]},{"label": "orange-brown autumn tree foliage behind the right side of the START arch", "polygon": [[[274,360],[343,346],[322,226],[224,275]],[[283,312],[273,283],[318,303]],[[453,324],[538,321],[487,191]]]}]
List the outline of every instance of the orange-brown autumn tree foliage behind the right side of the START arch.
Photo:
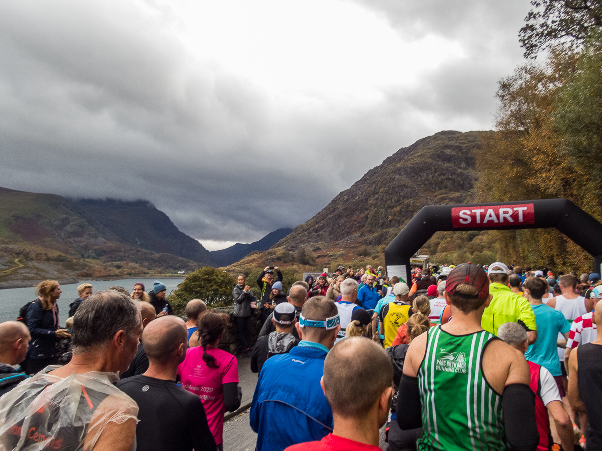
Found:
[{"label": "orange-brown autumn tree foliage behind the right side of the START arch", "polygon": [[[479,201],[563,197],[602,219],[597,45],[587,41],[581,51],[557,46],[545,65],[526,64],[501,79],[498,131],[483,137],[477,154]],[[498,256],[509,262],[564,270],[591,263],[591,256],[555,229],[491,233]]]}]

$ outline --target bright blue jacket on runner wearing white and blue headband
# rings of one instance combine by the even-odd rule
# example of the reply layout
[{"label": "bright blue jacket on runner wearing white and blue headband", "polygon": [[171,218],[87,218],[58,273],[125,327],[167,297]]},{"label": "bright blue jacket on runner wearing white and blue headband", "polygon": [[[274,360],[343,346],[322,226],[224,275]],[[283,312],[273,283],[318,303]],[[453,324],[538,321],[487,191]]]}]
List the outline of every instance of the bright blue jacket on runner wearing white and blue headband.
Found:
[{"label": "bright blue jacket on runner wearing white and blue headband", "polygon": [[283,451],[332,432],[332,410],[320,387],[326,352],[297,346],[265,361],[251,403],[258,451]]}]

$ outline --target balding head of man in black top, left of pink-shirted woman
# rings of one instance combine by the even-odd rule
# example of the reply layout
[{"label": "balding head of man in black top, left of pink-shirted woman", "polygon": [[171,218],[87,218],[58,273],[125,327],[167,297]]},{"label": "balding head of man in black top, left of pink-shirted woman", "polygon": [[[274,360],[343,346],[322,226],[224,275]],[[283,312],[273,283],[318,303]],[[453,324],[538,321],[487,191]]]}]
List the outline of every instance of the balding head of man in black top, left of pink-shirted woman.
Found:
[{"label": "balding head of man in black top, left of pink-shirted woman", "polygon": [[163,316],[144,328],[142,341],[144,342],[144,352],[151,364],[153,361],[166,363],[173,357],[173,353],[180,345],[185,347],[185,343],[188,342],[188,331],[181,318],[173,315]]}]

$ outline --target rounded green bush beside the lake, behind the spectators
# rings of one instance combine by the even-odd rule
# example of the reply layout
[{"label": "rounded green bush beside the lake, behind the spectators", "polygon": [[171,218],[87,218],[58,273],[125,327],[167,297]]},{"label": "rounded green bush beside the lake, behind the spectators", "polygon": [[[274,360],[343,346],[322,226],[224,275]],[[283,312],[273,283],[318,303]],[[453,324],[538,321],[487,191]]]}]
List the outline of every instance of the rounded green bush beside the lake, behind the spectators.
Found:
[{"label": "rounded green bush beside the lake, behind the spectators", "polygon": [[188,273],[178,288],[169,296],[177,314],[182,314],[190,299],[202,299],[207,307],[224,307],[232,304],[234,277],[211,266],[203,266]]}]

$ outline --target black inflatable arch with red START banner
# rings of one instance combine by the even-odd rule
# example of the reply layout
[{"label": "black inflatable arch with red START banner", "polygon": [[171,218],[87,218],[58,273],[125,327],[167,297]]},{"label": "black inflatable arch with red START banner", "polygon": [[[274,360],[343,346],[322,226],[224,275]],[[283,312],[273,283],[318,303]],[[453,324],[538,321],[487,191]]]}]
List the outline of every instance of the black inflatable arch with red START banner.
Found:
[{"label": "black inflatable arch with red START banner", "polygon": [[602,272],[602,224],[567,199],[424,207],[385,249],[389,277],[411,280],[410,259],[438,230],[556,227],[594,256]]}]

